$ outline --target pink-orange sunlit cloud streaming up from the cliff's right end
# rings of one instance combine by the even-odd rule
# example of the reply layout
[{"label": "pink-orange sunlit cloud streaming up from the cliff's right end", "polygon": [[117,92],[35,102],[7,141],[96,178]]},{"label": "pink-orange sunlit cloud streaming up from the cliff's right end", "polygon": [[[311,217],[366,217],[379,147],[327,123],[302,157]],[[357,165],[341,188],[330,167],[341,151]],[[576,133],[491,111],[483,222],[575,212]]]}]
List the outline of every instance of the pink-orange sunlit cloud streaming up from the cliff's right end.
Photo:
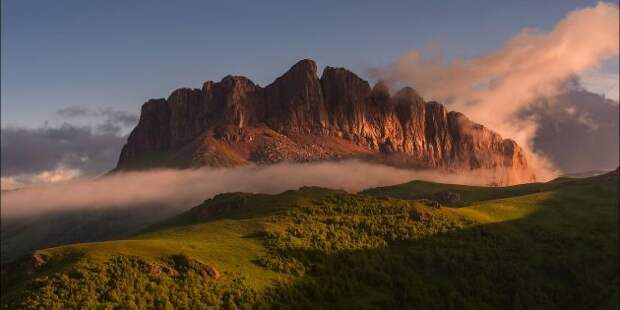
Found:
[{"label": "pink-orange sunlit cloud streaming up from the cliff's right end", "polygon": [[413,85],[423,96],[449,107],[526,146],[538,173],[556,174],[533,146],[536,119],[519,118],[524,108],[564,91],[566,79],[596,68],[619,51],[619,12],[598,3],[568,14],[549,32],[526,29],[500,49],[446,61],[414,50],[393,65],[374,70],[393,84]]}]

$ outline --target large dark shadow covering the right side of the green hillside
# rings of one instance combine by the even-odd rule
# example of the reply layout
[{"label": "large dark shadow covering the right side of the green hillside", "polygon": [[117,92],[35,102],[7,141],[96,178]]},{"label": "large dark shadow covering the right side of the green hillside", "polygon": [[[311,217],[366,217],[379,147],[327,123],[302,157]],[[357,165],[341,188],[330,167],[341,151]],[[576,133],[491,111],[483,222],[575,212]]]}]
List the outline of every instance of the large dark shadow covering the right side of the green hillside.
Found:
[{"label": "large dark shadow covering the right side of the green hillside", "polygon": [[[267,302],[283,308],[615,309],[614,186],[569,186],[526,218],[383,249],[289,250],[284,255],[306,272],[268,291]],[[579,191],[591,192],[584,199]]]}]

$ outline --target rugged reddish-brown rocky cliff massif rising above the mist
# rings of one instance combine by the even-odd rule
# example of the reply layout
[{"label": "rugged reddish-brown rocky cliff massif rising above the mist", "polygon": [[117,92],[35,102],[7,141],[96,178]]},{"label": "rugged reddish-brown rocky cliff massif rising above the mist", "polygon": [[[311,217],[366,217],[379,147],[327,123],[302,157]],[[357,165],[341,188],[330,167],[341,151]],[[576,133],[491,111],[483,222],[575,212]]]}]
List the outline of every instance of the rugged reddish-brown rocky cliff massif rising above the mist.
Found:
[{"label": "rugged reddish-brown rocky cliff massif rising above the mist", "polygon": [[363,157],[415,168],[508,169],[532,178],[512,140],[354,73],[302,60],[266,87],[226,76],[142,106],[117,169]]}]

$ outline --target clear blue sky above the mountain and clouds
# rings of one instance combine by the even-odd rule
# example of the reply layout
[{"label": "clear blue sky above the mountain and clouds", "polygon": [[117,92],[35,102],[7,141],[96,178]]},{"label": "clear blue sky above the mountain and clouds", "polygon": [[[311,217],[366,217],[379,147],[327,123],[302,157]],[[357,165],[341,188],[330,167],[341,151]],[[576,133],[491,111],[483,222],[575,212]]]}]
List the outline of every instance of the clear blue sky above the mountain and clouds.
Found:
[{"label": "clear blue sky above the mountain and clouds", "polygon": [[[434,43],[447,57],[475,56],[593,4],[6,0],[2,126],[54,122],[67,106],[137,113],[147,98],[229,73],[265,85],[301,58],[364,76]],[[603,70],[617,74],[617,67]]]}]

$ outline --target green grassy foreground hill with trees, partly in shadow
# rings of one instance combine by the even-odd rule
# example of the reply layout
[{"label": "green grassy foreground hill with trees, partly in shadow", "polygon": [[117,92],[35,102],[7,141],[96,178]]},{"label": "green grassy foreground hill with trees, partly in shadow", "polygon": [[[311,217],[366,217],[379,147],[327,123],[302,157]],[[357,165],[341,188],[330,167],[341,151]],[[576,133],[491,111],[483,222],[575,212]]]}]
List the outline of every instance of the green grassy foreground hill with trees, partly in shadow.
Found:
[{"label": "green grassy foreground hill with trees, partly in shadow", "polygon": [[218,195],[131,239],[41,250],[6,266],[2,303],[618,307],[617,171],[521,188],[419,190],[461,191],[462,207],[322,188]]}]

